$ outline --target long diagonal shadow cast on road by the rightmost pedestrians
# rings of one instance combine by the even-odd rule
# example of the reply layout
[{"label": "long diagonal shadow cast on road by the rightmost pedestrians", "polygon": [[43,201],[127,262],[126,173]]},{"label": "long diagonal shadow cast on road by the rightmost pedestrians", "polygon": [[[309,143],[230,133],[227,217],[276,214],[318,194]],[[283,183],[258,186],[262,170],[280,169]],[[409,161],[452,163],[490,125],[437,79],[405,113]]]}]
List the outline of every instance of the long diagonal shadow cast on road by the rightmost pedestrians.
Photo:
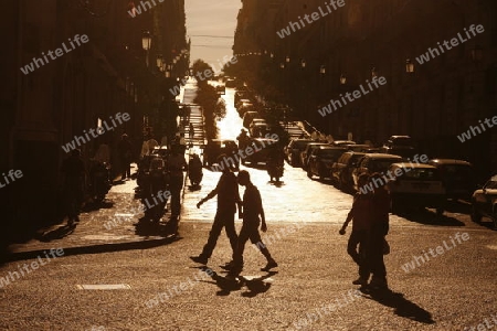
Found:
[{"label": "long diagonal shadow cast on road by the rightmost pedestrians", "polygon": [[424,310],[416,303],[404,298],[403,293],[387,290],[370,290],[368,288],[359,289],[366,298],[374,300],[383,306],[394,308],[396,316],[414,320],[425,324],[433,324],[435,321],[430,311]]}]

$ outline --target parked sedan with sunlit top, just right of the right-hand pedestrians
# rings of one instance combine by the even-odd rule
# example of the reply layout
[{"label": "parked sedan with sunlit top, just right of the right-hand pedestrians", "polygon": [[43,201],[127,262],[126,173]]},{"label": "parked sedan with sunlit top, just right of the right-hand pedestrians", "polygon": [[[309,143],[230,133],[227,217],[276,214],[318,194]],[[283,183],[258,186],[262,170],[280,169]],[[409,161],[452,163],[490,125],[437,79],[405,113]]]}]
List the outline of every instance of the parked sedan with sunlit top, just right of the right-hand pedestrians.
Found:
[{"label": "parked sedan with sunlit top, just right of the right-hand pedestrians", "polygon": [[444,212],[445,189],[438,170],[430,164],[392,163],[389,167],[393,180],[388,182],[392,213],[408,207],[434,207]]}]

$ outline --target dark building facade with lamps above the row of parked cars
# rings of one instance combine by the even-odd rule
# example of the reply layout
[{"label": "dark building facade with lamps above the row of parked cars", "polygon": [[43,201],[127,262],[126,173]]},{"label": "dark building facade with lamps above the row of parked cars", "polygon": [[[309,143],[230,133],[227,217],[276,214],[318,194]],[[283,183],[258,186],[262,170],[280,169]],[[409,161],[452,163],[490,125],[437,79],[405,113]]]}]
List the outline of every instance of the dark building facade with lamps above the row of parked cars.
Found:
[{"label": "dark building facade with lamps above the row of parked cars", "polygon": [[[296,114],[336,139],[351,134],[358,142],[381,143],[409,135],[429,156],[463,158],[485,175],[496,172],[497,130],[475,127],[497,115],[497,3],[338,2],[335,8],[330,1],[283,1],[275,30],[265,32],[277,36],[272,47],[264,45],[275,54],[272,75],[286,70],[272,84],[284,84],[279,89]],[[318,14],[308,23],[304,17],[313,12]],[[283,29],[289,33],[281,38]],[[244,53],[243,45],[235,39],[235,50]],[[319,114],[373,76],[387,84]],[[458,137],[472,127],[475,135],[462,142]]]}]

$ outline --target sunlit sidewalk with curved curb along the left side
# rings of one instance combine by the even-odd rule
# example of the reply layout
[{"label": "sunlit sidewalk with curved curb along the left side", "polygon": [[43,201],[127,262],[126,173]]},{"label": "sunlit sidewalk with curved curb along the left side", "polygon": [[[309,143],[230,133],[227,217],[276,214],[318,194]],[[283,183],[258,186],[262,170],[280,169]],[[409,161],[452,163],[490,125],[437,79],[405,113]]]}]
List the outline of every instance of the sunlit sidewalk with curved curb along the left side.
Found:
[{"label": "sunlit sidewalk with curved curb along the left side", "polygon": [[[183,103],[191,103],[194,96],[195,89],[191,86],[181,89],[180,98]],[[203,145],[204,139],[203,117],[198,106],[192,105],[191,108],[190,120],[195,127],[195,137],[187,138],[193,142],[193,150],[199,152],[199,145]],[[188,162],[188,154],[186,157]],[[136,171],[136,166],[131,171]],[[188,172],[184,177],[187,183]],[[43,250],[55,247],[63,248],[66,254],[93,254],[149,248],[176,241],[166,225],[170,218],[170,199],[169,210],[159,224],[145,226],[138,224],[144,214],[140,199],[135,196],[136,186],[136,180],[115,184],[101,206],[83,210],[80,222],[75,225],[68,226],[65,221],[39,231],[38,236],[27,243],[10,245],[7,260],[35,258]],[[184,201],[184,190],[186,185],[181,194],[181,204]]]}]

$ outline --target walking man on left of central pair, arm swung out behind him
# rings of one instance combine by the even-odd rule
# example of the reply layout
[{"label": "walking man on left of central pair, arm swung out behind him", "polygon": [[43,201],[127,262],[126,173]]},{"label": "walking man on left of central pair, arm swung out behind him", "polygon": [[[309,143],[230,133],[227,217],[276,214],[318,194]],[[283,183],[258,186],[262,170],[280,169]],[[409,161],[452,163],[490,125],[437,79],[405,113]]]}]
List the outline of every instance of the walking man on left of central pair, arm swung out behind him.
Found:
[{"label": "walking man on left of central pair, arm swung out behind him", "polygon": [[[221,164],[225,162],[225,154],[219,156],[218,163]],[[215,212],[214,223],[212,224],[211,232],[209,233],[209,239],[205,246],[203,246],[202,253],[199,256],[190,257],[193,261],[199,264],[208,263],[223,227],[225,228],[226,235],[230,238],[234,258],[237,243],[237,236],[234,226],[234,214],[236,213],[236,205],[239,206],[239,212],[241,212],[242,201],[240,200],[236,175],[231,171],[231,168],[228,167],[228,164],[223,168],[223,173],[219,179],[215,189],[212,190],[204,199],[202,199],[197,204],[197,207],[200,209],[200,206],[205,201],[214,197],[215,195],[218,195],[218,210]]]}]

